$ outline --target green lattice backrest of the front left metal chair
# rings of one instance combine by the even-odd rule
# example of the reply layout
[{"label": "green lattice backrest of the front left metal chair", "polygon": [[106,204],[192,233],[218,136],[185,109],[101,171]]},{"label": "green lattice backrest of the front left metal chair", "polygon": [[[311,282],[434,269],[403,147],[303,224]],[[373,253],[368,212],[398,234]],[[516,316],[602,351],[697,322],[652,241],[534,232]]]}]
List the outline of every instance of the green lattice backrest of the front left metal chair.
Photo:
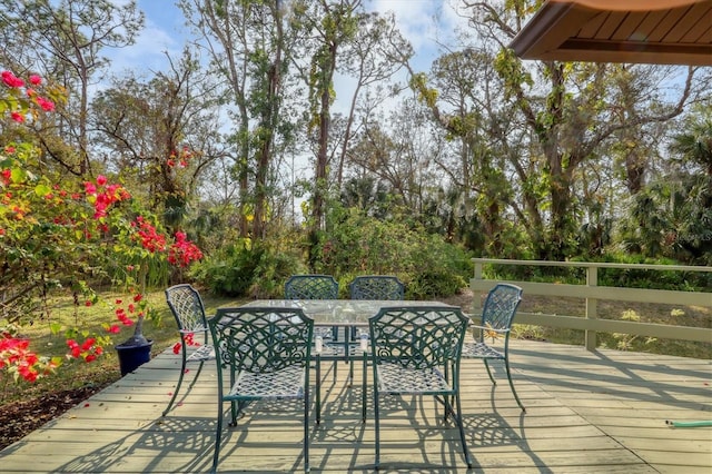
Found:
[{"label": "green lattice backrest of the front left metal chair", "polygon": [[314,320],[299,308],[218,308],[208,324],[216,357],[233,373],[308,371]]}]

